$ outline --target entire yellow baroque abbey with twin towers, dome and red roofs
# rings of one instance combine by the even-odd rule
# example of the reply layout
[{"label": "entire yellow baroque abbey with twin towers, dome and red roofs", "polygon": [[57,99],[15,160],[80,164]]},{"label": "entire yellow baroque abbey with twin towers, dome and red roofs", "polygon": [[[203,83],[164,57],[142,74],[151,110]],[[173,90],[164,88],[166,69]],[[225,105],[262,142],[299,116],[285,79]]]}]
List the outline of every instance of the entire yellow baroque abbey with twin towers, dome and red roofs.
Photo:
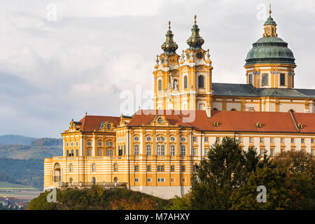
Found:
[{"label": "entire yellow baroque abbey with twin towers, dome and red roofs", "polygon": [[260,155],[314,156],[315,90],[295,89],[295,58],[267,18],[246,57],[246,84],[212,83],[209,50],[196,18],[188,48],[169,30],[154,66],[154,109],[133,116],[71,120],[63,155],[45,158],[44,190],[127,187],[163,198],[183,195],[211,145],[235,137]]}]

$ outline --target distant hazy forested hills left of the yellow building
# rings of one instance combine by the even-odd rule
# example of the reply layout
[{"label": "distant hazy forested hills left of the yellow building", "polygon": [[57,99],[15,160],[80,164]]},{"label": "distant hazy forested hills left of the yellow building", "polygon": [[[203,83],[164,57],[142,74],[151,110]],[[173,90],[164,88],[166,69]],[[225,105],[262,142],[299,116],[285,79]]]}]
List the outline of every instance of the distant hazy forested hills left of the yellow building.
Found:
[{"label": "distant hazy forested hills left of the yellow building", "polygon": [[[1,145],[1,142],[9,144]],[[43,187],[43,160],[57,155],[62,155],[62,139],[2,136],[0,137],[0,181],[41,188]]]}]

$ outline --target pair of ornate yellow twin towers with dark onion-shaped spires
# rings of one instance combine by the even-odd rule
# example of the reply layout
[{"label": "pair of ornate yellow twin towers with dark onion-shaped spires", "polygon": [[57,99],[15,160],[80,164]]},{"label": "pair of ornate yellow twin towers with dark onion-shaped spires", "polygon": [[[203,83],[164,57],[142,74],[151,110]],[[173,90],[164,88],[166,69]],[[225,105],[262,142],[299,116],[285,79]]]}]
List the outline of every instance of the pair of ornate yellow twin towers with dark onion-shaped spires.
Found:
[{"label": "pair of ornate yellow twin towers with dark onion-shaped spires", "polygon": [[209,49],[203,50],[204,39],[200,36],[196,16],[188,48],[181,56],[167,31],[167,40],[162,45],[165,52],[158,55],[153,71],[155,81],[155,109],[209,110],[212,96],[212,66]]}]

